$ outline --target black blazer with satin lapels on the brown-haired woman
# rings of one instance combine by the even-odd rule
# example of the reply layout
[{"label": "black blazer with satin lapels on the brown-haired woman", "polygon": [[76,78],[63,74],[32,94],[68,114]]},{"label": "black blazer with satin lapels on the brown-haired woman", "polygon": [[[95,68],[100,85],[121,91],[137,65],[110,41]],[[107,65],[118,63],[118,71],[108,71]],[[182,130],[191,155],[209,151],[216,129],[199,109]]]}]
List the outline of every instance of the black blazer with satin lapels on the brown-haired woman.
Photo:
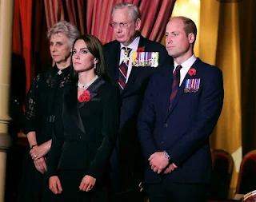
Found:
[{"label": "black blazer with satin lapels on the brown-haired woman", "polygon": [[48,176],[58,169],[83,169],[102,179],[118,134],[119,90],[99,77],[90,87],[90,101],[78,102],[76,85],[66,90],[62,118],[55,122]]}]

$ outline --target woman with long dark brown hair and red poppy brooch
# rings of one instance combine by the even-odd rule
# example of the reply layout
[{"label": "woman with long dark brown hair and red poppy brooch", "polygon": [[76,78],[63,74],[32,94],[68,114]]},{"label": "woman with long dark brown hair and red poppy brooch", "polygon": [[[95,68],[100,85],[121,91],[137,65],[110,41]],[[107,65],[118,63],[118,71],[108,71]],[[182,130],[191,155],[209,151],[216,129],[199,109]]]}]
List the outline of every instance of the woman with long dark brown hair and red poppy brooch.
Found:
[{"label": "woman with long dark brown hair and red poppy brooch", "polygon": [[98,38],[82,35],[72,50],[74,80],[55,122],[49,188],[56,201],[109,201],[110,155],[118,134],[119,91],[110,84]]}]

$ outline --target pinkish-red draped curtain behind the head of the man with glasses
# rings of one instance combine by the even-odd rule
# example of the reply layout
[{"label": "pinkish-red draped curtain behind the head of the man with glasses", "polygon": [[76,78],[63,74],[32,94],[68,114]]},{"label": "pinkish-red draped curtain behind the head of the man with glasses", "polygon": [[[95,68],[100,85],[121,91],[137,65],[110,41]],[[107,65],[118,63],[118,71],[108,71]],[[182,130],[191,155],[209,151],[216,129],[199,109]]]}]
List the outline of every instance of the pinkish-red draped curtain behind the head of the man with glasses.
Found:
[{"label": "pinkish-red draped curtain behind the head of the man with glasses", "polygon": [[[99,38],[103,43],[114,40],[111,21],[111,9],[124,0],[45,0],[47,26],[52,26],[59,20],[67,20],[78,26],[82,34],[89,33]],[[142,35],[153,41],[161,42],[175,0],[129,0],[138,5],[142,11]],[[84,13],[86,11],[86,14]]]}]

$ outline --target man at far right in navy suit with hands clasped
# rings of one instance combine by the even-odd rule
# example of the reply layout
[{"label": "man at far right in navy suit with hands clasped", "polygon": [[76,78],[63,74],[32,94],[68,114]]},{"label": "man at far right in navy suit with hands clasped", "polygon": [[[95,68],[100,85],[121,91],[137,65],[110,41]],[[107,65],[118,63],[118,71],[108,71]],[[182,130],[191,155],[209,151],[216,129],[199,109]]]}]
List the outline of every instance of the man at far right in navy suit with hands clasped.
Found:
[{"label": "man at far right in navy suit with hands clasped", "polygon": [[222,71],[194,56],[196,36],[192,20],[170,18],[166,50],[174,65],[151,78],[138,116],[150,202],[207,200],[209,137],[222,111],[224,90]]}]

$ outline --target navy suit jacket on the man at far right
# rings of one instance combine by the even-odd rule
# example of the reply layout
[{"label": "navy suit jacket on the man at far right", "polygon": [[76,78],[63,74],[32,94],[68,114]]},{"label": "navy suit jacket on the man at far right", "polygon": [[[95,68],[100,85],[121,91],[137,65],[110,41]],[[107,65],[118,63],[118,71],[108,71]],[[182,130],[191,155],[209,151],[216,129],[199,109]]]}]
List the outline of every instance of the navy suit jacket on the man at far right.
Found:
[{"label": "navy suit jacket on the man at far right", "polygon": [[[180,183],[209,183],[211,156],[209,137],[222,111],[224,97],[222,71],[199,58],[186,74],[169,110],[173,69],[155,74],[146,89],[138,116],[138,135],[147,160],[154,152],[166,150],[178,166],[170,174],[157,174],[148,164],[146,183],[163,179]],[[186,80],[200,78],[198,92],[185,93]]]}]

